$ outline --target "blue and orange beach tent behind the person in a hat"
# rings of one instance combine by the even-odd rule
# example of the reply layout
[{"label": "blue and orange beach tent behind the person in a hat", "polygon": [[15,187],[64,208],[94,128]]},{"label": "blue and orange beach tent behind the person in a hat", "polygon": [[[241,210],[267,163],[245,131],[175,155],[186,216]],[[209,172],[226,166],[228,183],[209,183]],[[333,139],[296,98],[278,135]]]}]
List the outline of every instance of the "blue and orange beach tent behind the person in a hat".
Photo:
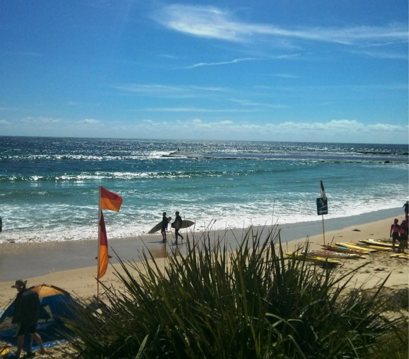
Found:
[{"label": "blue and orange beach tent behind the person in a hat", "polygon": [[[64,289],[54,285],[41,284],[28,288],[36,291],[41,301],[40,319],[36,325],[44,347],[54,346],[68,339],[69,331],[64,319],[75,320],[82,306]],[[11,303],[0,317],[0,341],[17,346],[16,326],[12,324],[14,303]],[[30,348],[31,347],[31,348]],[[23,349],[26,351],[39,349],[31,337],[24,338]]]}]

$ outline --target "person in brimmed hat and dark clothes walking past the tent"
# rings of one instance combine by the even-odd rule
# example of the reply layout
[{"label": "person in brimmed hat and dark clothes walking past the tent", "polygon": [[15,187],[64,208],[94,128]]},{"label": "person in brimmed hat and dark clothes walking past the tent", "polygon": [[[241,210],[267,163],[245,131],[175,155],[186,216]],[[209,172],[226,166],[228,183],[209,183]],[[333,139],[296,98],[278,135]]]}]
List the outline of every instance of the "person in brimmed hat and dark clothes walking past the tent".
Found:
[{"label": "person in brimmed hat and dark clothes walking past the tent", "polygon": [[16,288],[18,293],[14,300],[14,315],[12,323],[17,324],[17,351],[16,357],[20,357],[24,343],[24,336],[30,334],[40,346],[40,353],[45,354],[44,346],[39,334],[35,332],[35,325],[38,322],[40,313],[40,299],[38,293],[26,288],[26,280],[16,280],[12,288]]}]

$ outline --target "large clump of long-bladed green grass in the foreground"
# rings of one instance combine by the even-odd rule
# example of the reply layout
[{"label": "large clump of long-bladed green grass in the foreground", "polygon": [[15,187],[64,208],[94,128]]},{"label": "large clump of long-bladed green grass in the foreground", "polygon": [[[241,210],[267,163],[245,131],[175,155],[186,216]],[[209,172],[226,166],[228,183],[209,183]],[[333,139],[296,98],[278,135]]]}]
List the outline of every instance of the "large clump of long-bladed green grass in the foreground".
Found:
[{"label": "large clump of long-bladed green grass in the foreground", "polygon": [[193,239],[165,271],[146,254],[141,268],[121,262],[124,290],[105,287],[99,310],[68,324],[71,356],[373,358],[391,349],[387,341],[403,345],[399,333],[391,335],[402,318],[384,316],[384,283],[363,295],[350,288],[361,267],[335,275],[286,259],[279,233],[261,237],[249,231],[232,251],[209,237]]}]

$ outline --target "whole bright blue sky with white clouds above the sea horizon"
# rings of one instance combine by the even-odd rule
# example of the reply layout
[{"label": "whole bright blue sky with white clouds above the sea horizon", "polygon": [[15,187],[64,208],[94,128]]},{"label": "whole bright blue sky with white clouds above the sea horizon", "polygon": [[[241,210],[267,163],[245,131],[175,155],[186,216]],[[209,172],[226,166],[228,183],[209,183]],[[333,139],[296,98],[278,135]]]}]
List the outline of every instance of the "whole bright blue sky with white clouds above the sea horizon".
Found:
[{"label": "whole bright blue sky with white clouds above the sea horizon", "polygon": [[0,135],[409,143],[409,2],[0,3]]}]

